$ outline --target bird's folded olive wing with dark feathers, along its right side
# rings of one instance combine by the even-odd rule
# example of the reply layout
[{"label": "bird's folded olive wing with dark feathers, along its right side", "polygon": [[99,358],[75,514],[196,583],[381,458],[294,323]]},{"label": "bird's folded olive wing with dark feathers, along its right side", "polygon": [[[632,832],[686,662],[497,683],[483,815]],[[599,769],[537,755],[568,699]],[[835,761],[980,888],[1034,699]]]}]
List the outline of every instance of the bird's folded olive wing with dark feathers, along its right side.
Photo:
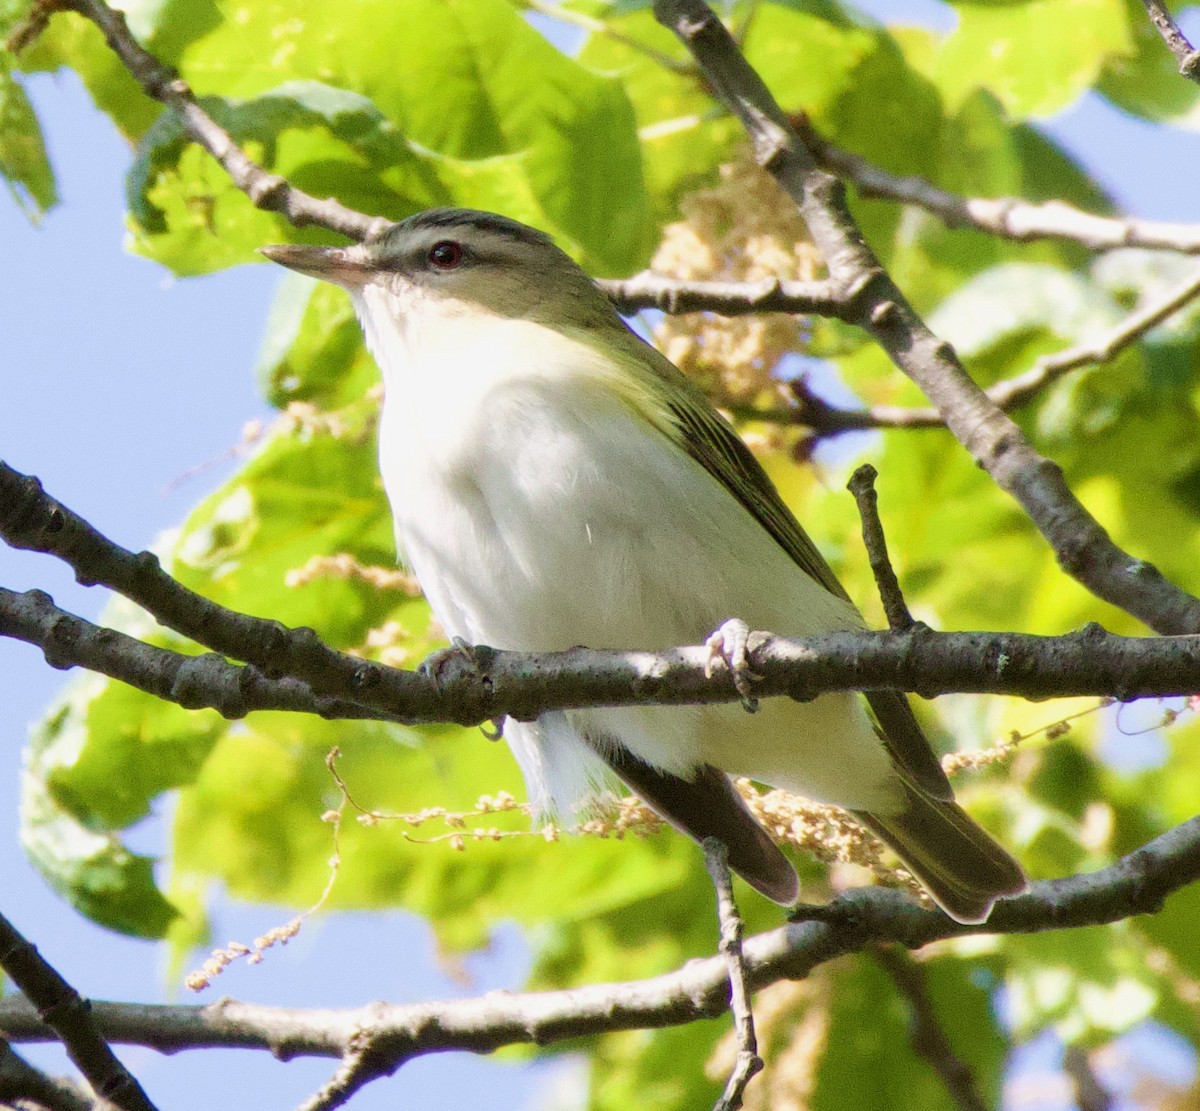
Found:
[{"label": "bird's folded olive wing with dark feathers, along its right side", "polygon": [[[742,438],[670,360],[650,350],[658,356],[654,368],[665,388],[664,408],[676,422],[688,454],[749,510],[805,573],[848,602],[850,595],[833,569]],[[898,691],[866,691],[866,701],[884,746],[913,785],[934,798],[953,798],[949,780],[917,723],[908,699]]]}]

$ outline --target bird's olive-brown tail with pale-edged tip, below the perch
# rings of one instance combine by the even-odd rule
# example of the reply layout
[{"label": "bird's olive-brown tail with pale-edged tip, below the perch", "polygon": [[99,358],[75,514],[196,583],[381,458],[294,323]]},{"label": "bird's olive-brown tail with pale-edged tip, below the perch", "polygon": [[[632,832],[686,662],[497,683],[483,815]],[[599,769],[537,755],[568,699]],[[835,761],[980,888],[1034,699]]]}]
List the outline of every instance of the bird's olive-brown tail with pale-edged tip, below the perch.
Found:
[{"label": "bird's olive-brown tail with pale-edged tip, below the perch", "polygon": [[1019,895],[1028,882],[1021,866],[958,803],[930,798],[905,783],[900,813],[853,811],[920,881],[955,921],[988,920],[991,905]]}]

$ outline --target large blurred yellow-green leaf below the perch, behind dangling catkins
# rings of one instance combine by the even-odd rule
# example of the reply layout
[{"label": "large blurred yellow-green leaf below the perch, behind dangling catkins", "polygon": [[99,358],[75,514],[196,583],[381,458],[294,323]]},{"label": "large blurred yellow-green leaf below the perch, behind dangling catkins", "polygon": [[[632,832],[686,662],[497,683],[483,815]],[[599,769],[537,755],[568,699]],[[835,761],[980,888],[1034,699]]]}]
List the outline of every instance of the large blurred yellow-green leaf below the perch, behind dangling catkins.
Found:
[{"label": "large blurred yellow-green leaf below the perch, behind dangling catkins", "polygon": [[[335,745],[338,773],[367,809],[461,812],[482,795],[522,793],[506,746],[475,729],[252,715],[222,738],[180,794],[173,882],[196,889],[216,878],[241,899],[301,907],[316,901],[334,853],[320,817],[340,800],[324,764]],[[413,828],[386,819],[364,825],[354,817],[349,810],[342,823],[330,906],[404,906],[428,915],[440,943],[455,949],[484,944],[504,920],[538,926],[542,941],[558,936],[570,949],[570,960],[547,957],[547,984],[580,983],[598,969],[610,978],[662,972],[682,951],[698,955],[712,944],[709,914],[701,913],[709,911],[710,893],[700,854],[674,834],[551,842],[530,833],[520,812],[469,818],[462,829],[432,818]],[[518,835],[493,837],[493,828]],[[464,847],[456,851],[448,834],[460,834]],[[533,875],[553,882],[532,884]],[[689,899],[689,878],[698,906]]]}]

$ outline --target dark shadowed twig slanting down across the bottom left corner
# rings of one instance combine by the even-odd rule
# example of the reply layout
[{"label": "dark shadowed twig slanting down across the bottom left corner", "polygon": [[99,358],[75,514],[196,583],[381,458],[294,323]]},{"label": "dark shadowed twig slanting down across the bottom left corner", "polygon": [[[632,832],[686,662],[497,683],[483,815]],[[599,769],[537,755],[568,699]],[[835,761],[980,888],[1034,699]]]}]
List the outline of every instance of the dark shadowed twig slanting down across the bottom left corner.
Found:
[{"label": "dark shadowed twig slanting down across the bottom left corner", "polygon": [[155,1111],[142,1085],[121,1064],[96,1028],[90,1004],[47,963],[37,948],[0,914],[0,968],[58,1039],[88,1083],[121,1111]]}]

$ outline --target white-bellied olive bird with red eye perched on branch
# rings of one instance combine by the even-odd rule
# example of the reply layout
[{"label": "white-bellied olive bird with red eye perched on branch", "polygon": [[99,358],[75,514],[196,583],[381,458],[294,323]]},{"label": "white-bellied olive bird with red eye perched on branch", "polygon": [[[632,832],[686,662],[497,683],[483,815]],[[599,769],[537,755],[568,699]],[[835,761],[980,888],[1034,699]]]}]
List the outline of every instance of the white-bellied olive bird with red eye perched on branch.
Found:
[{"label": "white-bellied olive bird with red eye perched on branch", "polygon": [[[736,617],[808,636],[863,618],[701,391],[551,239],[433,209],[349,247],[268,247],[349,290],[386,401],[396,538],[448,635],[521,651],[696,644]],[[792,865],[730,776],[834,803],[959,921],[1025,888],[953,798],[902,695],[625,707],[506,721],[533,805],[610,773],[776,902]]]}]

